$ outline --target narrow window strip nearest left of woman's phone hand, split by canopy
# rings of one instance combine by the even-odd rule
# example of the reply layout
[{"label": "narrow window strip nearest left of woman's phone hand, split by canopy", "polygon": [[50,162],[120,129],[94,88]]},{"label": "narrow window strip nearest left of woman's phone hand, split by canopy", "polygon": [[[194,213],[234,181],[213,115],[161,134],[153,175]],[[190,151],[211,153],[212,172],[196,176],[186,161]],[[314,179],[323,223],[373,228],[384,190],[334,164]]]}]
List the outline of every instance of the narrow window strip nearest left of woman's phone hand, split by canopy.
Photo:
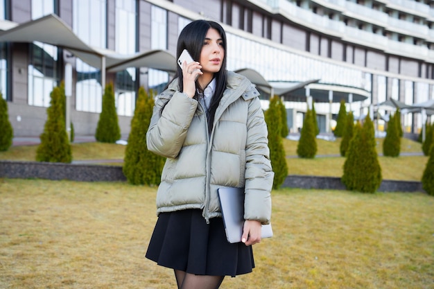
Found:
[{"label": "narrow window strip nearest left of woman's phone hand, split by canopy", "polygon": [[[157,6],[151,10],[151,49],[167,49],[167,11]],[[161,92],[168,82],[168,73],[157,69],[148,71],[148,87],[157,93]]]}]

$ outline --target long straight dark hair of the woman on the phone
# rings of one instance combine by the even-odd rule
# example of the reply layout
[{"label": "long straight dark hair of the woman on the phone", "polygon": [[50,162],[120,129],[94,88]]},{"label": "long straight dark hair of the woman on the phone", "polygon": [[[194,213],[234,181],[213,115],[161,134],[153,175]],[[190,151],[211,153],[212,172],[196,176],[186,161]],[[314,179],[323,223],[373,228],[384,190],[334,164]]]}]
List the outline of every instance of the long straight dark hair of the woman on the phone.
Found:
[{"label": "long straight dark hair of the woman on the phone", "polygon": [[[216,114],[216,110],[218,107],[218,103],[220,103],[220,99],[223,96],[223,91],[226,88],[226,80],[227,80],[227,71],[226,71],[226,33],[223,30],[223,27],[220,26],[215,21],[208,20],[196,20],[188,24],[182,29],[180,33],[180,37],[178,37],[177,47],[176,47],[176,59],[180,57],[182,51],[186,49],[189,51],[191,57],[195,61],[200,60],[200,52],[202,51],[202,46],[205,41],[205,37],[207,36],[207,32],[209,28],[214,28],[220,34],[222,39],[223,49],[225,50],[225,57],[223,58],[222,67],[220,71],[214,73],[214,78],[216,78],[216,91],[214,91],[214,95],[211,98],[211,103],[209,104],[209,118],[208,118],[208,130],[211,132],[212,125],[214,123],[214,116]],[[182,69],[177,66],[177,73],[174,78],[179,77],[179,86],[180,91],[184,89],[184,83],[182,82]],[[196,87],[199,87],[198,82],[196,82]],[[201,89],[205,89],[205,87],[201,87]],[[196,92],[194,98],[198,99],[198,94]]]}]

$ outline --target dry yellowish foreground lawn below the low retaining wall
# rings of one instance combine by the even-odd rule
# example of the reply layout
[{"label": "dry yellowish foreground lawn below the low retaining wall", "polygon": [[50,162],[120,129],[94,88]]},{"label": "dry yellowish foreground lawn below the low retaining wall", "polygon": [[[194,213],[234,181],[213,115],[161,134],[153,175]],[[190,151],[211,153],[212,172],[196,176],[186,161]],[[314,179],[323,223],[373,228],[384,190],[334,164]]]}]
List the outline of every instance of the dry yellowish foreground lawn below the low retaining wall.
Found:
[{"label": "dry yellowish foreground lawn below the low retaining wall", "polygon": [[[175,288],[144,258],[155,187],[0,179],[0,288]],[[273,238],[223,289],[434,288],[434,198],[273,191]],[[176,236],[174,236],[176,238]]]}]

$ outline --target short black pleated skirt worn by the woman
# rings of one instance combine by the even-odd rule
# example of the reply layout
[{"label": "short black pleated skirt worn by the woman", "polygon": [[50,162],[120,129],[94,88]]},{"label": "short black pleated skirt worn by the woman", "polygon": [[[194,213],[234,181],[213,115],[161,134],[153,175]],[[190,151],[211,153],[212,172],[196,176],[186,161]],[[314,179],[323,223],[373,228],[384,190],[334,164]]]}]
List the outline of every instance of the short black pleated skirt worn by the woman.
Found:
[{"label": "short black pleated skirt worn by the woman", "polygon": [[146,258],[197,275],[232,276],[252,272],[252,246],[227,242],[222,218],[209,224],[202,211],[160,213]]}]

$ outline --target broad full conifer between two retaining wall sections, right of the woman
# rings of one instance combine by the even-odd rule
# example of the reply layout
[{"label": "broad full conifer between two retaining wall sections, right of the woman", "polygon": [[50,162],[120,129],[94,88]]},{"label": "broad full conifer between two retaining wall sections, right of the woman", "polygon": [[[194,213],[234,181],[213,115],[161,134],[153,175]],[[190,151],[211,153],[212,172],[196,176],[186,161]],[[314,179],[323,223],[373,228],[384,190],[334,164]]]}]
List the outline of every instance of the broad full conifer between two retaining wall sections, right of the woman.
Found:
[{"label": "broad full conifer between two retaining wall sections, right of the woman", "polygon": [[357,123],[349,142],[342,183],[347,190],[374,193],[381,184],[381,167],[375,149],[374,125],[368,115],[363,126]]}]

